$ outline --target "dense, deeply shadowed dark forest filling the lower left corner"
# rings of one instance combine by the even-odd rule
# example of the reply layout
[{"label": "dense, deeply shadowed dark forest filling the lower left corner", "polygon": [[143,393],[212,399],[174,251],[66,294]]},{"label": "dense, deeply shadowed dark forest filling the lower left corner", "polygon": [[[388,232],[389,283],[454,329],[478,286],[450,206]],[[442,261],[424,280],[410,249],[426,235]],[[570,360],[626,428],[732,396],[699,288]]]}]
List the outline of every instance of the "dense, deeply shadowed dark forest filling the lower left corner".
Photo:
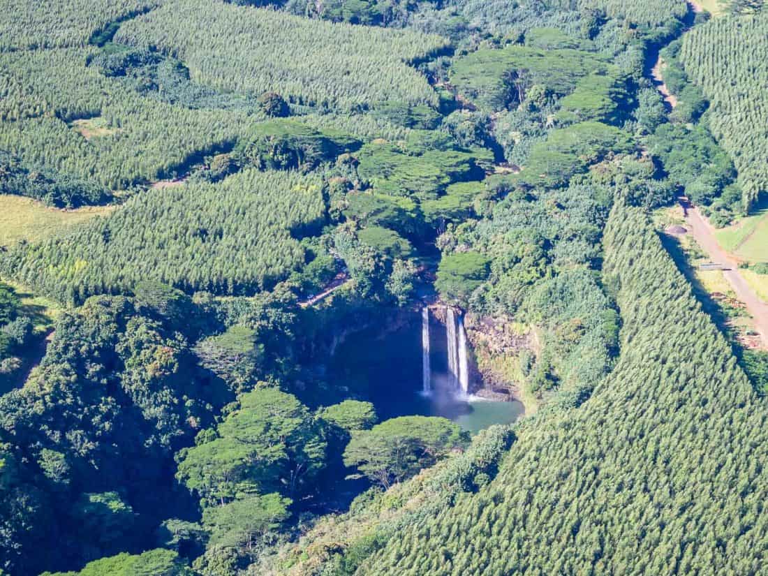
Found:
[{"label": "dense, deeply shadowed dark forest filling the lower left corner", "polygon": [[[194,337],[190,300],[141,293],[62,314],[40,366],[0,398],[12,473],[3,484],[3,562],[12,571],[151,543],[154,523],[179,505],[165,492],[174,450],[233,397],[197,367],[178,332]],[[88,528],[73,532],[73,522]]]}]

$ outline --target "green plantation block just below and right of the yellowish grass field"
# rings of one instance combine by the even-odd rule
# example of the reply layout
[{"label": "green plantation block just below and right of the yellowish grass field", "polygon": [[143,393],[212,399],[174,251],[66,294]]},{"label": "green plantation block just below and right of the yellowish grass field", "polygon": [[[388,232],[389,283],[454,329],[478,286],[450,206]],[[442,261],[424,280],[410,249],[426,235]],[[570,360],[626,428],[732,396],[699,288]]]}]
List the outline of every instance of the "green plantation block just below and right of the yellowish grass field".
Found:
[{"label": "green plantation block just below and right of the yellowish grass field", "polygon": [[243,170],[220,184],[141,194],[68,236],[15,248],[4,269],[70,301],[147,279],[215,293],[261,290],[304,263],[292,234],[316,229],[323,212],[318,178]]}]

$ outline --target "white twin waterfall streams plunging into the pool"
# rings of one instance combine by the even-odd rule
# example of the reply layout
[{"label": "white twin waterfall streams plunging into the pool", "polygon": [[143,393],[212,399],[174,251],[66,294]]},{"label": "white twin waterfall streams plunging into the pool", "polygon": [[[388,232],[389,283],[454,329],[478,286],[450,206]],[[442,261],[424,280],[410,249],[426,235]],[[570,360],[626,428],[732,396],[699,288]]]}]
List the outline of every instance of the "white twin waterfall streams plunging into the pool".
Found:
[{"label": "white twin waterfall streams plunging into the pool", "polygon": [[[445,334],[448,338],[448,372],[452,388],[461,396],[469,393],[467,332],[464,317],[445,307]],[[432,392],[432,367],[429,361],[429,308],[422,308],[422,382],[423,392]]]}]

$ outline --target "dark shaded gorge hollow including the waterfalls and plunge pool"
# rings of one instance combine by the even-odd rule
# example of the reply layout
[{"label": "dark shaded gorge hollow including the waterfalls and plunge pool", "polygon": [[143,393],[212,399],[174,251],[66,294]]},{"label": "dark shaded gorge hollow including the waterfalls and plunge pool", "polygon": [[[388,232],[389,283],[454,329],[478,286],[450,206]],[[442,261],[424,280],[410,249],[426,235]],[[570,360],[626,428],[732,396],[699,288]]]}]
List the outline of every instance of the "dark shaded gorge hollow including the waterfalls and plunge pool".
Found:
[{"label": "dark shaded gorge hollow including the waterfalls and plunge pool", "polygon": [[339,343],[329,361],[333,381],[369,399],[380,419],[443,416],[474,433],[523,414],[516,399],[475,396],[484,384],[461,310],[435,303],[404,314],[392,332],[369,326]]}]

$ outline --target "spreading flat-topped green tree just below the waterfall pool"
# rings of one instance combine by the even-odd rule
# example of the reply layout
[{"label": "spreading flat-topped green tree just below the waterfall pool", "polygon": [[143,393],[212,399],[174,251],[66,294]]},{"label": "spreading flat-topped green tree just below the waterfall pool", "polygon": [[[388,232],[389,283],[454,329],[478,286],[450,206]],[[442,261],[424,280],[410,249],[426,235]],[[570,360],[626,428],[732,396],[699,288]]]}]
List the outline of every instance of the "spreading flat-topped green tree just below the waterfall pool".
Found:
[{"label": "spreading flat-topped green tree just below the waterfall pool", "polygon": [[353,432],[344,451],[344,464],[355,466],[372,482],[389,488],[467,442],[467,433],[448,419],[402,416],[370,430]]}]

